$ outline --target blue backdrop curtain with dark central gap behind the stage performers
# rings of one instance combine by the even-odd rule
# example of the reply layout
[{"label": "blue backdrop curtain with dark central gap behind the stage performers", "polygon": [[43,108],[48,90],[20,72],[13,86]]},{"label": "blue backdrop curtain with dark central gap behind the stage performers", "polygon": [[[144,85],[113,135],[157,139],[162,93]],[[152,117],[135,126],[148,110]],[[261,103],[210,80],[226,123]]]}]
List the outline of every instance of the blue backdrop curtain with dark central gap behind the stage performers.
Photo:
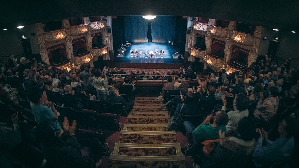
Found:
[{"label": "blue backdrop curtain with dark central gap behind the stage performers", "polygon": [[[131,43],[147,43],[148,20],[142,16],[124,16],[125,39]],[[167,43],[175,37],[175,16],[157,16],[152,20],[152,42]]]}]

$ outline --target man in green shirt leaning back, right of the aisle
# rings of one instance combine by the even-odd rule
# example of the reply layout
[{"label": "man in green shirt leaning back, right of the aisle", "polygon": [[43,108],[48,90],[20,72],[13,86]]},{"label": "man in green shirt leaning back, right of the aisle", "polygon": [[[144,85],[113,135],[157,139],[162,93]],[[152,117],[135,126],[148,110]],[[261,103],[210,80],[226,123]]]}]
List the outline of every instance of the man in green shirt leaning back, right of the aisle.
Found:
[{"label": "man in green shirt leaning back, right of the aisle", "polygon": [[[213,120],[212,124],[210,124],[210,120]],[[203,142],[208,139],[219,139],[219,130],[226,132],[225,125],[227,122],[227,113],[220,110],[216,114],[209,114],[197,128],[195,128],[195,126],[189,121],[185,121],[184,126],[187,137],[189,137],[189,141],[193,140],[193,142]]]}]

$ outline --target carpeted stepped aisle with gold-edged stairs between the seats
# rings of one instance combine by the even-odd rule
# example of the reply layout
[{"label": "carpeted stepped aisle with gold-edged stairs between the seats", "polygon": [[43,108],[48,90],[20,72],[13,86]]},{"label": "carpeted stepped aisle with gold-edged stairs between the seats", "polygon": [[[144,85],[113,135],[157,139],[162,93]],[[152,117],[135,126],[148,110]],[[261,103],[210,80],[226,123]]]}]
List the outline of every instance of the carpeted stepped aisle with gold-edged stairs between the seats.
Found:
[{"label": "carpeted stepped aisle with gold-edged stairs between the seats", "polygon": [[137,97],[110,155],[109,167],[185,168],[185,156],[175,131],[167,131],[169,115],[158,110],[162,100]]}]

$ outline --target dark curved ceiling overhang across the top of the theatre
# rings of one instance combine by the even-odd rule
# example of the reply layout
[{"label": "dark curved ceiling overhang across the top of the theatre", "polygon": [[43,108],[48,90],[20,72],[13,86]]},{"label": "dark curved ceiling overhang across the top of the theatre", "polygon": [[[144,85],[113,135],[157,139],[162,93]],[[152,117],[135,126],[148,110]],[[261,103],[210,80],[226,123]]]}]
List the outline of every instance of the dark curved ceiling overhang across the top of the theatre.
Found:
[{"label": "dark curved ceiling overhang across the top of the theatre", "polygon": [[152,14],[299,30],[299,1],[290,0],[7,0],[1,3],[1,29],[79,17]]}]

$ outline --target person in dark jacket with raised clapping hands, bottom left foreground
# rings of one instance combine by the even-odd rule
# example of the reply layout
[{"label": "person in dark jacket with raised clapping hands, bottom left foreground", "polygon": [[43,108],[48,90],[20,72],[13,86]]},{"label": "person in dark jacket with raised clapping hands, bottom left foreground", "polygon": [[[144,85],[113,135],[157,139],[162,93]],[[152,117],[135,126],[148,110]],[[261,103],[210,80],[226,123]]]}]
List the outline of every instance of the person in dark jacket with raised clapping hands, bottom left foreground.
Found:
[{"label": "person in dark jacket with raised clapping hands, bottom left foreground", "polygon": [[[69,126],[65,117],[63,123],[63,140],[55,135],[54,128],[48,123],[41,123],[35,128],[36,138],[40,148],[52,167],[99,167],[101,160],[93,161],[93,155],[88,147],[81,147],[75,136],[76,120]],[[69,135],[68,135],[69,132]]]}]

